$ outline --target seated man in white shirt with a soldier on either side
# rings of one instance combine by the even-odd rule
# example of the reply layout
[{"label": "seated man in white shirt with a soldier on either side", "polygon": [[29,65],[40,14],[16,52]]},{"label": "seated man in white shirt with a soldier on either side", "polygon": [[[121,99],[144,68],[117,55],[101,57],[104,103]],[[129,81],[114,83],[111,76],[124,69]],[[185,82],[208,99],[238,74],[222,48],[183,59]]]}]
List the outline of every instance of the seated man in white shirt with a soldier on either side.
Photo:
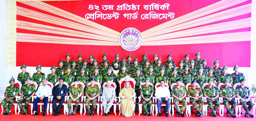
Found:
[{"label": "seated man in white shirt with a soldier on either side", "polygon": [[162,103],[166,103],[166,117],[169,117],[169,107],[170,107],[170,102],[169,102],[169,97],[170,91],[169,89],[165,86],[165,81],[161,80],[160,81],[160,87],[157,87],[155,96],[158,99],[157,100],[157,109],[158,109],[158,117],[161,117],[161,105]]}]

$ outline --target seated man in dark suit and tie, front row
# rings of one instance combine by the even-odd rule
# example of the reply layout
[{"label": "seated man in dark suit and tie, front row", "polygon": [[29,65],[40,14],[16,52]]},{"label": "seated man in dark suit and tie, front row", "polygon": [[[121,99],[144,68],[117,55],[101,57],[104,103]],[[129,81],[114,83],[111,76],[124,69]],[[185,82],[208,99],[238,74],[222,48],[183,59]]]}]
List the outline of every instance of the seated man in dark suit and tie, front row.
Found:
[{"label": "seated man in dark suit and tie, front row", "polygon": [[[52,89],[52,95],[54,96],[52,99],[52,105],[53,105],[53,109],[54,109],[54,116],[58,116],[60,115],[60,108],[62,106],[62,103],[65,100],[65,96],[67,94],[67,86],[63,85],[64,80],[62,78],[59,79],[59,85],[54,86],[54,88]],[[59,102],[59,106],[56,105],[56,103]]]}]

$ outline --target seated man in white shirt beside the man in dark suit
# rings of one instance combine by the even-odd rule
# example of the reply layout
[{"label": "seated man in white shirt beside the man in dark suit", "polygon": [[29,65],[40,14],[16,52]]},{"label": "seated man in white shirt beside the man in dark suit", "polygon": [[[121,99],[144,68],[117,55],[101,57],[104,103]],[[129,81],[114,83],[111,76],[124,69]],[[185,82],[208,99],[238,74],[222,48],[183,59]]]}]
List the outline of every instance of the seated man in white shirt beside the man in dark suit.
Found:
[{"label": "seated man in white shirt beside the man in dark suit", "polygon": [[39,115],[38,113],[38,109],[37,109],[37,103],[39,103],[40,101],[43,101],[44,105],[43,105],[43,116],[46,116],[45,111],[47,108],[47,102],[48,102],[48,96],[51,95],[51,87],[49,85],[46,84],[47,80],[43,79],[42,80],[42,84],[41,86],[39,86],[39,88],[37,89],[36,92],[36,96],[37,98],[33,101],[34,103],[34,111],[36,111],[33,116]]}]

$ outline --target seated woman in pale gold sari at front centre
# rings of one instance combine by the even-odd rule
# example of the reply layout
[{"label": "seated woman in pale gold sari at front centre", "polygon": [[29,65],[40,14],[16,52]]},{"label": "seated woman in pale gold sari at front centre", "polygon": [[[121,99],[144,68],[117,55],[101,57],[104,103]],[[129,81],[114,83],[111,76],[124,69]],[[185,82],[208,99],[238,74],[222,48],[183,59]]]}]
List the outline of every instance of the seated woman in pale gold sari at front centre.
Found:
[{"label": "seated woman in pale gold sari at front centre", "polygon": [[132,117],[134,111],[134,100],[133,97],[136,95],[134,89],[131,88],[131,84],[125,82],[125,87],[120,91],[119,96],[122,97],[120,100],[120,106],[123,116]]}]

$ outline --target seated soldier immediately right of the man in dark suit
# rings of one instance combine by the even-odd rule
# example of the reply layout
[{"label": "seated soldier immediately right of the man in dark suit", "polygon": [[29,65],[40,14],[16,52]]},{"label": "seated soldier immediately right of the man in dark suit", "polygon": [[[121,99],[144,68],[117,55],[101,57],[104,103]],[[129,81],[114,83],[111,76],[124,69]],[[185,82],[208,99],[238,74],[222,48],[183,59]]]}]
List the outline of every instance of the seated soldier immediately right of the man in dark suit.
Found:
[{"label": "seated soldier immediately right of the man in dark suit", "polygon": [[74,80],[74,85],[69,87],[69,100],[67,100],[67,105],[69,112],[67,115],[71,115],[71,103],[74,101],[75,102],[75,109],[73,111],[73,115],[76,115],[76,109],[78,107],[79,102],[81,101],[81,96],[83,94],[83,89],[81,86],[78,86],[78,79]]}]

